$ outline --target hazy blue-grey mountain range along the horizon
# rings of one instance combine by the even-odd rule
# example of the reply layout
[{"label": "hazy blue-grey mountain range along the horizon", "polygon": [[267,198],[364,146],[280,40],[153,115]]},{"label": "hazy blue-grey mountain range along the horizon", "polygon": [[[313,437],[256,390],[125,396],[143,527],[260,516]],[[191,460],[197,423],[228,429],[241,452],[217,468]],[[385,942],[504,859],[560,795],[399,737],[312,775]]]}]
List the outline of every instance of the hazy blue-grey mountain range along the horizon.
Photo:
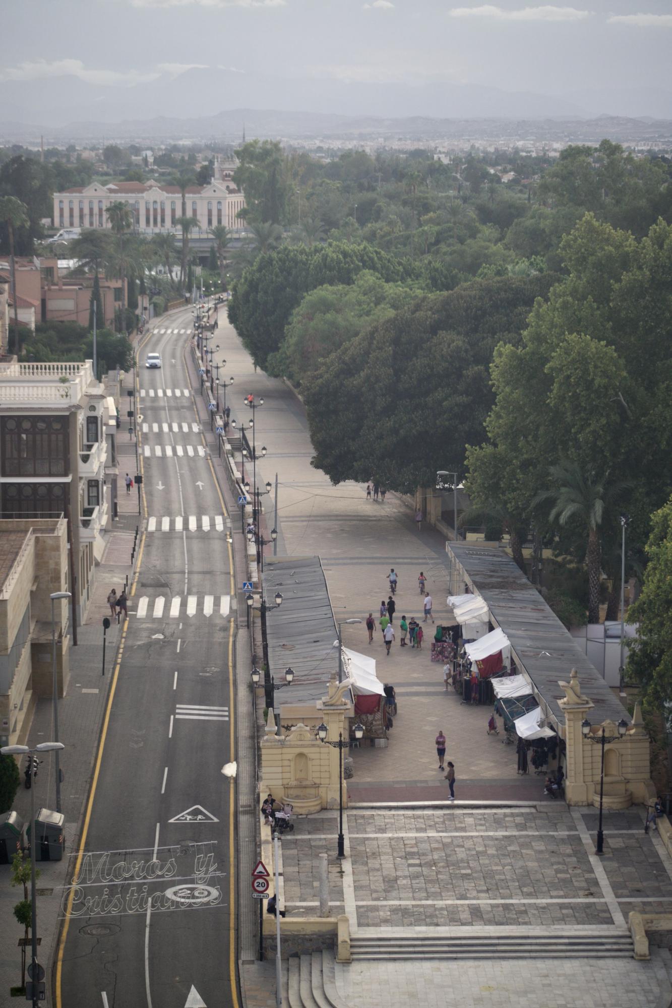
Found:
[{"label": "hazy blue-grey mountain range along the horizon", "polygon": [[[0,136],[20,139],[43,133],[49,138],[145,135],[148,124],[171,136],[181,131],[192,135],[194,128],[227,129],[240,136],[242,116],[249,131],[260,134],[269,105],[288,128],[271,130],[274,135],[315,135],[351,126],[349,117],[373,122],[398,122],[423,116],[431,120],[538,120],[591,119],[597,115],[672,119],[672,92],[622,89],[575,92],[565,96],[534,92],[507,92],[480,85],[431,83],[361,84],[333,79],[278,79],[231,70],[193,68],[175,77],[162,74],[148,84],[129,88],[88,84],[78,77],[63,76],[36,81],[5,81],[2,85]],[[240,119],[229,122],[236,110]],[[194,118],[194,110],[199,118]],[[0,113],[0,114],[2,114]],[[164,119],[163,117],[170,116]],[[252,120],[259,117],[259,126]],[[312,125],[308,125],[311,123]],[[264,125],[262,125],[264,124]],[[139,126],[139,130],[135,127]],[[317,128],[316,130],[316,127]],[[153,127],[152,127],[153,128]],[[396,127],[390,127],[394,132]],[[94,132],[95,130],[95,132]],[[177,131],[177,132],[176,132]],[[161,133],[161,135],[163,135]]]}]

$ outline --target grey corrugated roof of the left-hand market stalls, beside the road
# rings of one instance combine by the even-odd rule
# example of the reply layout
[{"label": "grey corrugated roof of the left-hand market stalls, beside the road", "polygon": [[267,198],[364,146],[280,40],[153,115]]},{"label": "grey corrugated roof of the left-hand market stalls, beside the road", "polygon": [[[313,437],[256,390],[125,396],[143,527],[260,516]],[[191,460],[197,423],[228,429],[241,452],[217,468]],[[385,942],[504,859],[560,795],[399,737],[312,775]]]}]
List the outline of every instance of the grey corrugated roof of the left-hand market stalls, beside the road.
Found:
[{"label": "grey corrugated roof of the left-hand market stalls, beside the road", "polygon": [[276,592],[283,604],[266,614],[268,662],[277,682],[285,681],[291,665],[295,678],[279,698],[303,704],[327,695],[332,672],[338,671],[336,623],[319,556],[265,559],[262,575],[266,602],[273,605]]}]

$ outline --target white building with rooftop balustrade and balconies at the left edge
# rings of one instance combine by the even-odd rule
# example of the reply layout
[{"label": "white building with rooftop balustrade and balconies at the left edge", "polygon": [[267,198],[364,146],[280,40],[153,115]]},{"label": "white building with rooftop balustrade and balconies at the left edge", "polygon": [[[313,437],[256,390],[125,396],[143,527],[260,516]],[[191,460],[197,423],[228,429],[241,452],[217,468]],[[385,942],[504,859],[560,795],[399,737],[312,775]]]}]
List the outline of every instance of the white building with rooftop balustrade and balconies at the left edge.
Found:
[{"label": "white building with rooftop balustrade and balconies at the left edge", "polygon": [[78,620],[109,527],[110,400],[91,361],[0,361],[0,517],[65,517]]}]

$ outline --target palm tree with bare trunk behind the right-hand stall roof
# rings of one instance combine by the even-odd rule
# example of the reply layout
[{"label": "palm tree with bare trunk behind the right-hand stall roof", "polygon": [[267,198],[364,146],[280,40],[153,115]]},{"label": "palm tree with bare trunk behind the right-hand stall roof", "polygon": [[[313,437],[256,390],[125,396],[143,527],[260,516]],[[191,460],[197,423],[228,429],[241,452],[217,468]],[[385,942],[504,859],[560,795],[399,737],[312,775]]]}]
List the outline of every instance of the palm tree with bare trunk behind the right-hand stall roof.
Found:
[{"label": "palm tree with bare trunk behind the right-hand stall roof", "polygon": [[564,461],[549,470],[554,487],[537,494],[533,506],[553,501],[549,514],[552,522],[567,525],[576,519],[587,533],[588,623],[599,623],[600,529],[604,512],[625,489],[624,483],[609,483],[608,473],[596,477],[584,473],[575,462]]}]

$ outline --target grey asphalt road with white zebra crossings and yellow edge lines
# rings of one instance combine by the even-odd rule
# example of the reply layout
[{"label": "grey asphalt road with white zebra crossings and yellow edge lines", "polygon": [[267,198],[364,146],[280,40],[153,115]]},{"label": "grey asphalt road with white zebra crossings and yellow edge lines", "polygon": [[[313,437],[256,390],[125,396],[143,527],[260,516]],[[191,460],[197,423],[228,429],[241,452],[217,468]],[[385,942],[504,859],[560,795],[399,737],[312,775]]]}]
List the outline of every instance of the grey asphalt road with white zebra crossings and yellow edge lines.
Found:
[{"label": "grey asphalt road with white zebra crossings and yellow edge lines", "polygon": [[[58,1008],[237,1004],[221,772],[233,752],[228,518],[183,357],[191,309],[169,319],[138,354],[149,520],[84,853],[71,859]],[[145,368],[148,351],[160,370]]]}]

